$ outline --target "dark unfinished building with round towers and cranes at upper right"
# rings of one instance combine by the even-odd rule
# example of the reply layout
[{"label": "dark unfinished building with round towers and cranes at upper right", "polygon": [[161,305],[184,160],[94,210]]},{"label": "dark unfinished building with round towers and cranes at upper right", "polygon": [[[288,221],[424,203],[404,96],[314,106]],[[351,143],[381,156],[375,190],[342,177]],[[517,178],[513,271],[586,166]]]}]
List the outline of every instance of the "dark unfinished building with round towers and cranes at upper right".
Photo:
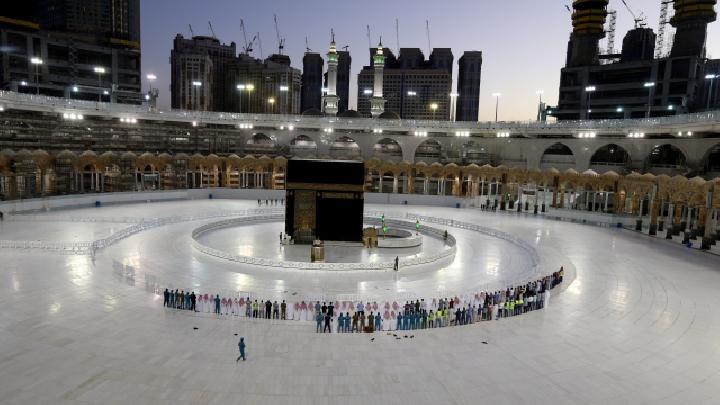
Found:
[{"label": "dark unfinished building with round towers and cranes at upper right", "polygon": [[[707,24],[717,0],[676,1],[670,23],[677,29],[669,57],[654,58],[656,35],[636,27],[619,55],[600,55],[607,0],[573,2],[573,31],[560,73],[558,105],[547,113],[559,120],[645,118],[702,111],[707,83],[701,72]],[[600,60],[609,61],[600,64]],[[709,93],[709,91],[708,91]],[[712,100],[711,100],[712,101]]]}]

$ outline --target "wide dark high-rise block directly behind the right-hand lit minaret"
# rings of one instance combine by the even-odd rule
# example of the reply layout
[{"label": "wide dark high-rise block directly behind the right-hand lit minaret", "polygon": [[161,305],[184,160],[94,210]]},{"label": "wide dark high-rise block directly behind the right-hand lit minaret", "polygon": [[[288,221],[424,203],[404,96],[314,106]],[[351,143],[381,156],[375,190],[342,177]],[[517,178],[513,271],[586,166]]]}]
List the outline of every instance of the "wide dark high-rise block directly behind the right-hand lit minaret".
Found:
[{"label": "wide dark high-rise block directly behind the right-hand lit minaret", "polygon": [[[358,74],[358,112],[373,115],[378,69],[377,53],[382,51],[382,98],[385,112],[405,119],[448,119],[452,90],[453,56],[449,48],[435,48],[428,60],[418,48],[402,48],[395,58],[387,48],[374,48],[370,66]],[[375,109],[379,111],[378,108]]]}]

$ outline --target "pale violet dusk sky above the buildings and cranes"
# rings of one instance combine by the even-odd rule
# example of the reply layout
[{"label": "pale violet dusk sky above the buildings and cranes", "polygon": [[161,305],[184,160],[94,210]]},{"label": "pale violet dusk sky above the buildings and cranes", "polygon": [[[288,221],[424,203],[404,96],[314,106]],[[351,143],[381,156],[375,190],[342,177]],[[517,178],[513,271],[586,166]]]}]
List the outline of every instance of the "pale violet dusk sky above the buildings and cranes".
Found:
[{"label": "pale violet dusk sky above the buildings and cranes", "polygon": [[[649,27],[657,30],[660,0],[629,0],[636,14],[647,16]],[[557,102],[560,68],[565,61],[571,30],[568,1],[556,0],[145,0],[142,1],[143,78],[158,76],[160,107],[169,108],[170,50],[177,33],[190,36],[210,35],[208,21],[222,42],[243,46],[240,19],[245,20],[248,40],[260,32],[263,56],[277,52],[273,14],[277,14],[281,35],[286,38],[285,54],[293,67],[302,69],[305,37],[313,51],[325,54],[334,28],[338,47],[349,45],[353,57],[350,83],[350,108],[356,105],[357,73],[369,64],[366,25],[370,25],[372,43],[383,43],[395,50],[395,19],[400,21],[400,46],[421,48],[427,57],[425,20],[430,21],[431,46],[452,48],[457,60],[466,50],[483,52],[480,120],[492,120],[495,100],[500,92],[500,119],[534,119],[537,90],[545,91],[543,100]],[[620,0],[611,0],[618,11],[616,49],[622,46],[633,18]],[[708,55],[720,56],[720,23],[710,25]],[[601,44],[604,46],[604,44]],[[255,57],[260,57],[255,47]],[[453,89],[455,88],[453,85]],[[144,85],[146,90],[148,84]]]}]

